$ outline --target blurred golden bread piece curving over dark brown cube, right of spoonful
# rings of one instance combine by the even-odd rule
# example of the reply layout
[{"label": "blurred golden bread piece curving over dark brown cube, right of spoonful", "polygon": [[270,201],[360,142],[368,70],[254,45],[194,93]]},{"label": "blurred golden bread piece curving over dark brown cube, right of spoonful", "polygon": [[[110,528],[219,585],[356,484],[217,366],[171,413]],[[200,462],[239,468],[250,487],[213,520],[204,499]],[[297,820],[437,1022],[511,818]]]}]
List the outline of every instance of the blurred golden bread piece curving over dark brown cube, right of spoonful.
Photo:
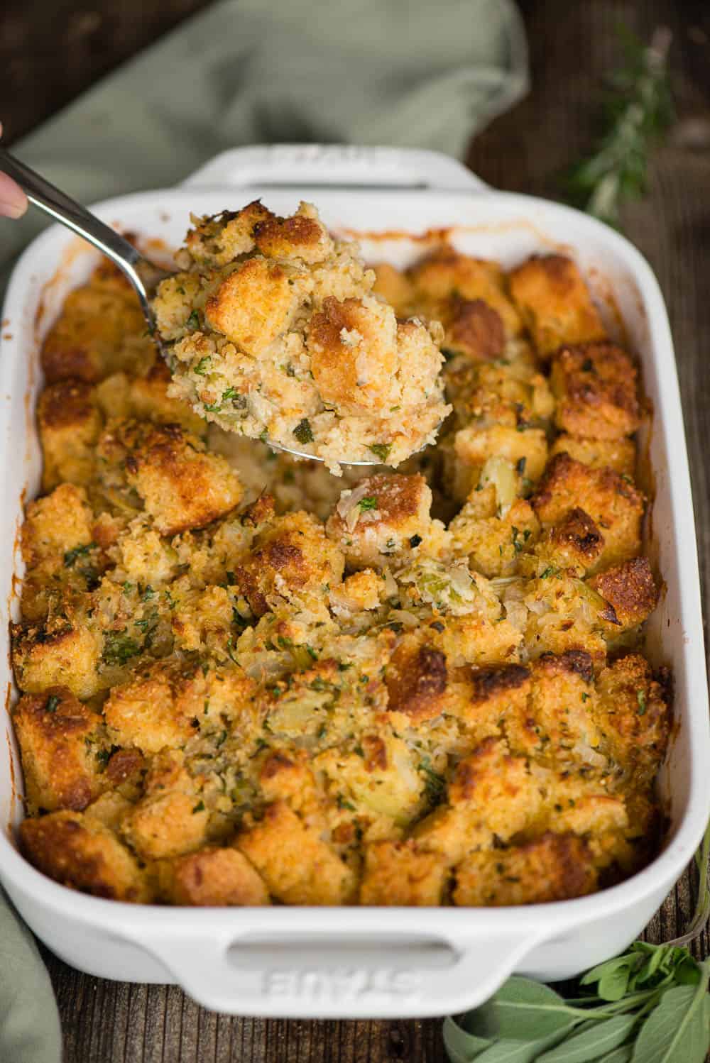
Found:
[{"label": "blurred golden bread piece curving over dark brown cube, right of spoonful", "polygon": [[506,336],[520,334],[520,316],[505,292],[505,276],[497,263],[442,248],[413,266],[409,276],[418,296],[427,302],[436,304],[452,297],[481,300],[498,314]]}]

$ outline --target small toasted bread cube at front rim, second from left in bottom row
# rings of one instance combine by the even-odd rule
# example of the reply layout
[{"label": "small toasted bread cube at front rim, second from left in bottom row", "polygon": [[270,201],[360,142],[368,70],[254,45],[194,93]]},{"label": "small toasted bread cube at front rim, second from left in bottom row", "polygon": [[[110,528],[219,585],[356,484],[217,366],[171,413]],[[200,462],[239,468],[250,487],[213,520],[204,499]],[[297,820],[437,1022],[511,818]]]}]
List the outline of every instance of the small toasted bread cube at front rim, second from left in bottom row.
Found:
[{"label": "small toasted bread cube at front rim, second from left in bottom row", "polygon": [[206,846],[160,866],[162,893],[171,905],[268,905],[258,872],[234,848]]}]

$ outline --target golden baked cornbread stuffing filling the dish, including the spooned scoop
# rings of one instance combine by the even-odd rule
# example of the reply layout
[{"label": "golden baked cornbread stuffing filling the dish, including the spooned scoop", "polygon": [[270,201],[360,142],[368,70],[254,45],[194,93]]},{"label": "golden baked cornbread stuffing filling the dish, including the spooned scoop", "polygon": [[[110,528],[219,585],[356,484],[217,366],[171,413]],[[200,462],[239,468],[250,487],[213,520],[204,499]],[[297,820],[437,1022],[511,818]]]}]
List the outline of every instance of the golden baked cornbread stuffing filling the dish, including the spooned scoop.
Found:
[{"label": "golden baked cornbread stuffing filling the dish, including the spooned scoop", "polygon": [[[312,208],[259,203],[196,220],[181,265],[176,385],[132,361],[111,269],[46,342],[13,632],[28,859],[186,906],[537,904],[643,866],[671,726],[639,652],[643,404],[576,266],[443,248],[373,289]],[[399,461],[390,406],[430,382],[420,441],[443,408],[427,318],[436,451],[337,478],[247,438],[277,438],[274,400],[304,448],[376,423],[349,438]]]}]

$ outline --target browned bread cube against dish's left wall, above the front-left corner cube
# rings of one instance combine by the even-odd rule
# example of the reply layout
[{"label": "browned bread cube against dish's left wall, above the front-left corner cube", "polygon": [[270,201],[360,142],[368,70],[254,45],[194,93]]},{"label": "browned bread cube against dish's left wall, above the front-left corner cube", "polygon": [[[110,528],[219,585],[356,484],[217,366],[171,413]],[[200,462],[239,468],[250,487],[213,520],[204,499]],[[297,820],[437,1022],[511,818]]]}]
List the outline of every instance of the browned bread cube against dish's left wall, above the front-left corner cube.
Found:
[{"label": "browned bread cube against dish's left wall, above the front-left corner cube", "polygon": [[13,710],[28,802],[34,809],[82,811],[107,786],[101,716],[66,687],[23,694]]}]

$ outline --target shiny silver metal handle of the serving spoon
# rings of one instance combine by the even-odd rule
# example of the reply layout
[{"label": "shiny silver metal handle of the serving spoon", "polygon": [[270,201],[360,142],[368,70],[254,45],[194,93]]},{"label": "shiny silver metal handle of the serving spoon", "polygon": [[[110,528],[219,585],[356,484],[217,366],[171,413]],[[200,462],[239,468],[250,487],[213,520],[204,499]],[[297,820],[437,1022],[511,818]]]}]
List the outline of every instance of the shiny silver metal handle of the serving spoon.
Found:
[{"label": "shiny silver metal handle of the serving spoon", "polygon": [[66,192],[55,188],[39,173],[21,163],[19,158],[15,158],[4,148],[0,148],[0,170],[17,182],[34,206],[38,206],[55,221],[88,240],[95,248],[107,255],[119,269],[123,270],[138,292],[143,311],[152,316],[146,285],[136,268],[141,266],[145,259],[132,243],[129,243],[114,229],[87,210],[85,206],[77,203]]}]

